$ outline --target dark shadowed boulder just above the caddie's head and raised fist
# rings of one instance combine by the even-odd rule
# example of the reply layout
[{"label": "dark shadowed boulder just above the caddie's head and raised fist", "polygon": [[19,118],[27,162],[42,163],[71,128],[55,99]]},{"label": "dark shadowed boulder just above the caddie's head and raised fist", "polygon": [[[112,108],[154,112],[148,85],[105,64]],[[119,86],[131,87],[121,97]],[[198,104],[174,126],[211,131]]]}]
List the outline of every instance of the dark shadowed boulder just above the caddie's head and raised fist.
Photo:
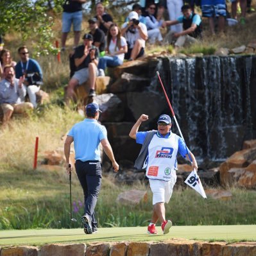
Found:
[{"label": "dark shadowed boulder just above the caddie's head and raised fist", "polygon": [[[132,111],[135,120],[137,120],[142,113],[145,113],[149,115],[150,120],[155,122],[155,126],[157,126],[157,119],[166,108],[166,105],[155,103],[165,102],[163,94],[157,92],[128,92],[126,97],[128,108]],[[149,106],[154,107],[149,108]]]}]

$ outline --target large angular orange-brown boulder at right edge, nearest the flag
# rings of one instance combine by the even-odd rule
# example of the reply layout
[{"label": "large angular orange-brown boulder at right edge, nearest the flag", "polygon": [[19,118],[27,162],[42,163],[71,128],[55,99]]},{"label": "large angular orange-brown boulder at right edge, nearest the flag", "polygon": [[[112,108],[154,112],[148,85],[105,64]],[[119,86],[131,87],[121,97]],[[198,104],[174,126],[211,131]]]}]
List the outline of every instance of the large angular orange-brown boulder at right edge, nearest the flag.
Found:
[{"label": "large angular orange-brown boulder at right edge, nearest the flag", "polygon": [[228,173],[231,168],[246,167],[252,163],[254,159],[256,159],[256,148],[243,149],[235,152],[219,167],[221,185],[232,185],[234,182],[230,173]]}]

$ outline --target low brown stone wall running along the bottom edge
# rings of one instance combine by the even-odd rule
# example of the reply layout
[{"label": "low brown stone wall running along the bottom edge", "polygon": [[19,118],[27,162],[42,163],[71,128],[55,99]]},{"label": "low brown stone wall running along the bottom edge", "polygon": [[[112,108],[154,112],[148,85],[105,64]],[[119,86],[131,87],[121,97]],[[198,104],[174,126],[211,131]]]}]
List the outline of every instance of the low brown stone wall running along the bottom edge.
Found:
[{"label": "low brown stone wall running along the bottom edge", "polygon": [[169,239],[162,243],[46,244],[0,248],[0,256],[255,256],[256,242]]}]

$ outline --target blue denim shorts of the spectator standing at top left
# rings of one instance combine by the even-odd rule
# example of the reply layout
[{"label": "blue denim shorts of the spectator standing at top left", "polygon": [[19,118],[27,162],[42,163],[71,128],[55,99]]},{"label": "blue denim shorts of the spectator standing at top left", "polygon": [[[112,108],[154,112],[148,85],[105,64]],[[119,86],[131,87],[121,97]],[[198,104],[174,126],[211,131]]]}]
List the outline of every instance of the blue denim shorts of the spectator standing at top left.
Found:
[{"label": "blue denim shorts of the spectator standing at top left", "polygon": [[62,13],[62,32],[68,33],[73,23],[74,31],[81,31],[81,22],[83,20],[82,11],[79,12],[63,12]]}]

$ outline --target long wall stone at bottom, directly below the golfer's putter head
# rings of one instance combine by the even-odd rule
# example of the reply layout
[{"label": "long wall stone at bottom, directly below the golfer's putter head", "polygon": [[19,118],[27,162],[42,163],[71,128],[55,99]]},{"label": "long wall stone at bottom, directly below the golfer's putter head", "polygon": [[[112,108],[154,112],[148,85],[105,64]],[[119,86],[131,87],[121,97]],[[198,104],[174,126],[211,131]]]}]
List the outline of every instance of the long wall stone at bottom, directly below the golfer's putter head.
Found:
[{"label": "long wall stone at bottom, directly below the golfer's putter head", "polygon": [[46,244],[38,256],[85,256],[86,244]]}]

